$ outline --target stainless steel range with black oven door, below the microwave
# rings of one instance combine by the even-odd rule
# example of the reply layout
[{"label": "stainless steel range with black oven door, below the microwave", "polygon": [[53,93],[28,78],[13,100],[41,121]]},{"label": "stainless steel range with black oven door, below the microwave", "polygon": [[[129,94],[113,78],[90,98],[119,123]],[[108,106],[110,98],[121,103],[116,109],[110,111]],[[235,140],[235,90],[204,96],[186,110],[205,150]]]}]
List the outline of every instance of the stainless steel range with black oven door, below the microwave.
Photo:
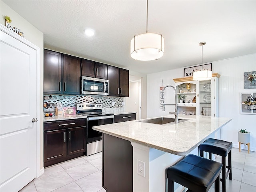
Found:
[{"label": "stainless steel range with black oven door, below the microwave", "polygon": [[76,114],[87,116],[86,156],[102,151],[102,132],[93,130],[93,126],[114,123],[113,113],[102,112],[102,103],[76,104]]}]

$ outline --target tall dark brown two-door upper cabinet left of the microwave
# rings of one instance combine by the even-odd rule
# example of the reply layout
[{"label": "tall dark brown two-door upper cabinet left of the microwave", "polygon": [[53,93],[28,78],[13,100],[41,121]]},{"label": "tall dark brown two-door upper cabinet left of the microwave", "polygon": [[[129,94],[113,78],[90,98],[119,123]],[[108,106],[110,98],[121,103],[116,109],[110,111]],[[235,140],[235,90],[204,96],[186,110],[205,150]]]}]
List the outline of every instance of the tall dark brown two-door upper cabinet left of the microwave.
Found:
[{"label": "tall dark brown two-door upper cabinet left of the microwave", "polygon": [[44,93],[80,94],[81,59],[44,50]]}]

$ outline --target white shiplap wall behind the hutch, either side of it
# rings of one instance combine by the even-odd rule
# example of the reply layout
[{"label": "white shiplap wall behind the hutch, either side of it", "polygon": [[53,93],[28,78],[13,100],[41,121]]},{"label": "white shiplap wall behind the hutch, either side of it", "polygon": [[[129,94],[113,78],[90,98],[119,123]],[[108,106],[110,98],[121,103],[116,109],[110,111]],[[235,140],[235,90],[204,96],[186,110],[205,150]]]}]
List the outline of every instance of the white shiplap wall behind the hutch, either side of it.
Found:
[{"label": "white shiplap wall behind the hutch, either side of it", "polygon": [[[246,129],[250,133],[250,150],[256,151],[256,115],[240,114],[240,93],[256,92],[256,89],[244,89],[244,72],[256,70],[256,54],[220,60],[212,63],[212,72],[219,73],[219,116],[233,118],[221,130],[221,139],[233,142],[238,148],[237,132]],[[147,75],[147,117],[168,115],[174,106],[166,106],[163,112],[159,108],[159,87],[172,84],[173,78],[183,77],[184,68]],[[166,88],[166,103],[174,103],[174,91]],[[247,149],[247,146],[242,145]]]}]

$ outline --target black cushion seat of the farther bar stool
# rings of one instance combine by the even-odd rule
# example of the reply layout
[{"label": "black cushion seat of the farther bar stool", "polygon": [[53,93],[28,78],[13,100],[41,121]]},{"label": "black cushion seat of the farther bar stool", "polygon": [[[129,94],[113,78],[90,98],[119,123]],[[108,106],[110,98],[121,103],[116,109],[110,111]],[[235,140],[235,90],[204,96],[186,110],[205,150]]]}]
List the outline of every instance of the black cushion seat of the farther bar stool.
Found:
[{"label": "black cushion seat of the farther bar stool", "polygon": [[209,138],[200,144],[199,149],[226,157],[232,149],[232,142]]}]

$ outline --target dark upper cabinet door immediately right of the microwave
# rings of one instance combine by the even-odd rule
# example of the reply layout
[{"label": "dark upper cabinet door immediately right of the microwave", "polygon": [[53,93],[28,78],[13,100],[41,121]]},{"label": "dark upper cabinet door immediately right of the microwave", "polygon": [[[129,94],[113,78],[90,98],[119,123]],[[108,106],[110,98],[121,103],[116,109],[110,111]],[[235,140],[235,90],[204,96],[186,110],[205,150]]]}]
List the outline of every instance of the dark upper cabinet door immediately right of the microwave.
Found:
[{"label": "dark upper cabinet door immediately right of the microwave", "polygon": [[109,96],[119,96],[119,68],[108,65]]}]

